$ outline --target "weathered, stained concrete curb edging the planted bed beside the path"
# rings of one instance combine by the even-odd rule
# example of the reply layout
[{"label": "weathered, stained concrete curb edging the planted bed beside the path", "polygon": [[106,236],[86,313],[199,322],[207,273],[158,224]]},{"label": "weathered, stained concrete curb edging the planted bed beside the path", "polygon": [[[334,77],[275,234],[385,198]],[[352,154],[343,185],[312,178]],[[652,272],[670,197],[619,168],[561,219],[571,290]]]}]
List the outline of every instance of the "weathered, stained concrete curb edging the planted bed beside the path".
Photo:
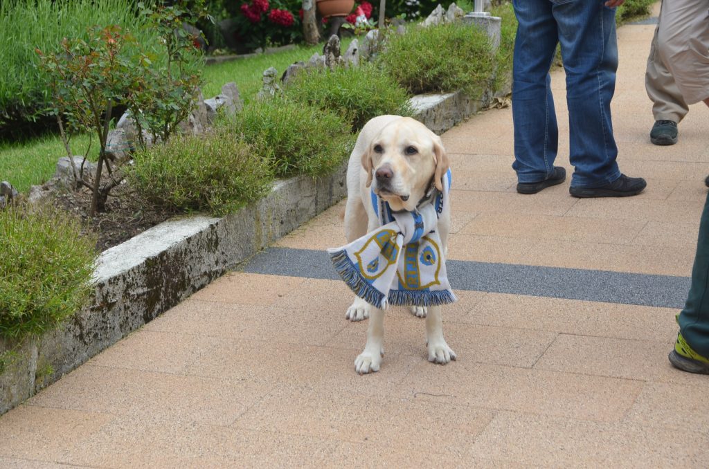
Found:
[{"label": "weathered, stained concrete curb edging the planted bed beside the path", "polygon": [[[437,133],[486,103],[487,98],[460,93],[412,99],[418,120]],[[94,305],[40,339],[0,341],[0,352],[15,350],[0,375],[0,414],[342,200],[346,169],[347,162],[323,179],[277,181],[268,196],[238,213],[169,220],[103,252],[94,274]]]}]

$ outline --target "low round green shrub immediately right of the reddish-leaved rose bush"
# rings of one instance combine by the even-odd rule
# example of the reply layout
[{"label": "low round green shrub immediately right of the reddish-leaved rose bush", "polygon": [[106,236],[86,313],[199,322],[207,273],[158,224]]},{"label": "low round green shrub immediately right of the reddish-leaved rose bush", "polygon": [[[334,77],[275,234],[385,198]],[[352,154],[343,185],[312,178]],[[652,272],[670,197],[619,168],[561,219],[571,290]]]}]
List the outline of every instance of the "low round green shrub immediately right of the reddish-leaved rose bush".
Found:
[{"label": "low round green shrub immediately right of the reddish-leaved rose bush", "polygon": [[174,135],[134,161],[128,179],[138,193],[170,210],[225,215],[264,196],[273,180],[267,159],[238,134],[220,130]]}]

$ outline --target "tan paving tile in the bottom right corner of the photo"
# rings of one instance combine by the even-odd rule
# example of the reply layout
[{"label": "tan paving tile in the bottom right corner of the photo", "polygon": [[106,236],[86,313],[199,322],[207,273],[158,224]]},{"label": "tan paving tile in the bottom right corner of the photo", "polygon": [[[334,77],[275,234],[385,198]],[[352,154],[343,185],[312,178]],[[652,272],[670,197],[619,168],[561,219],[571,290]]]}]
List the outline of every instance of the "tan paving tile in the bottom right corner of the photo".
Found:
[{"label": "tan paving tile in the bottom right corner of the photo", "polygon": [[709,436],[677,436],[635,424],[499,412],[476,439],[472,455],[549,468],[704,468]]}]

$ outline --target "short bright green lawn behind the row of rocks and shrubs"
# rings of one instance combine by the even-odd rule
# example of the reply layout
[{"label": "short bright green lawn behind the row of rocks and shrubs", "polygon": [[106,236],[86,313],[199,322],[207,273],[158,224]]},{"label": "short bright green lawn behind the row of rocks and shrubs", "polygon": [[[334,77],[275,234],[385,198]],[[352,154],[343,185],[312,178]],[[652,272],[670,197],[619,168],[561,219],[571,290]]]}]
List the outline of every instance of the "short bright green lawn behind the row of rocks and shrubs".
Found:
[{"label": "short bright green lawn behind the row of rocks and shrubs", "polygon": [[[350,39],[342,41],[342,51],[350,45]],[[268,67],[276,67],[279,76],[293,62],[307,61],[314,52],[322,53],[323,45],[297,47],[268,55],[257,55],[242,60],[208,65],[203,70],[202,86],[205,98],[219,94],[223,84],[234,81],[242,99],[255,98],[262,86],[263,72]],[[72,139],[74,154],[84,154],[89,143],[87,135]],[[99,143],[91,145],[90,159],[96,159]],[[59,135],[45,135],[27,142],[0,142],[0,181],[10,183],[20,192],[26,192],[33,184],[47,181],[55,171],[57,159],[66,156],[64,145]]]}]

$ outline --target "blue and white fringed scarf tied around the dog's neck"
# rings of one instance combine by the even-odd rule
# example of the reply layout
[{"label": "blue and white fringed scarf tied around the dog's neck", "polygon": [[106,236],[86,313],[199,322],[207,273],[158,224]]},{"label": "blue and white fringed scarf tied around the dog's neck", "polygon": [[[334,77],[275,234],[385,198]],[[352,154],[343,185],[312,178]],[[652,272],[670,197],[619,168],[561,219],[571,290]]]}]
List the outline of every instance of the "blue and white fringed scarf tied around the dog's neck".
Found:
[{"label": "blue and white fringed scarf tied around the dog's neck", "polygon": [[379,228],[343,247],[328,249],[342,280],[370,305],[446,305],[457,300],[448,283],[436,230],[449,203],[450,169],[443,192],[435,189],[413,212],[392,212],[372,191]]}]

